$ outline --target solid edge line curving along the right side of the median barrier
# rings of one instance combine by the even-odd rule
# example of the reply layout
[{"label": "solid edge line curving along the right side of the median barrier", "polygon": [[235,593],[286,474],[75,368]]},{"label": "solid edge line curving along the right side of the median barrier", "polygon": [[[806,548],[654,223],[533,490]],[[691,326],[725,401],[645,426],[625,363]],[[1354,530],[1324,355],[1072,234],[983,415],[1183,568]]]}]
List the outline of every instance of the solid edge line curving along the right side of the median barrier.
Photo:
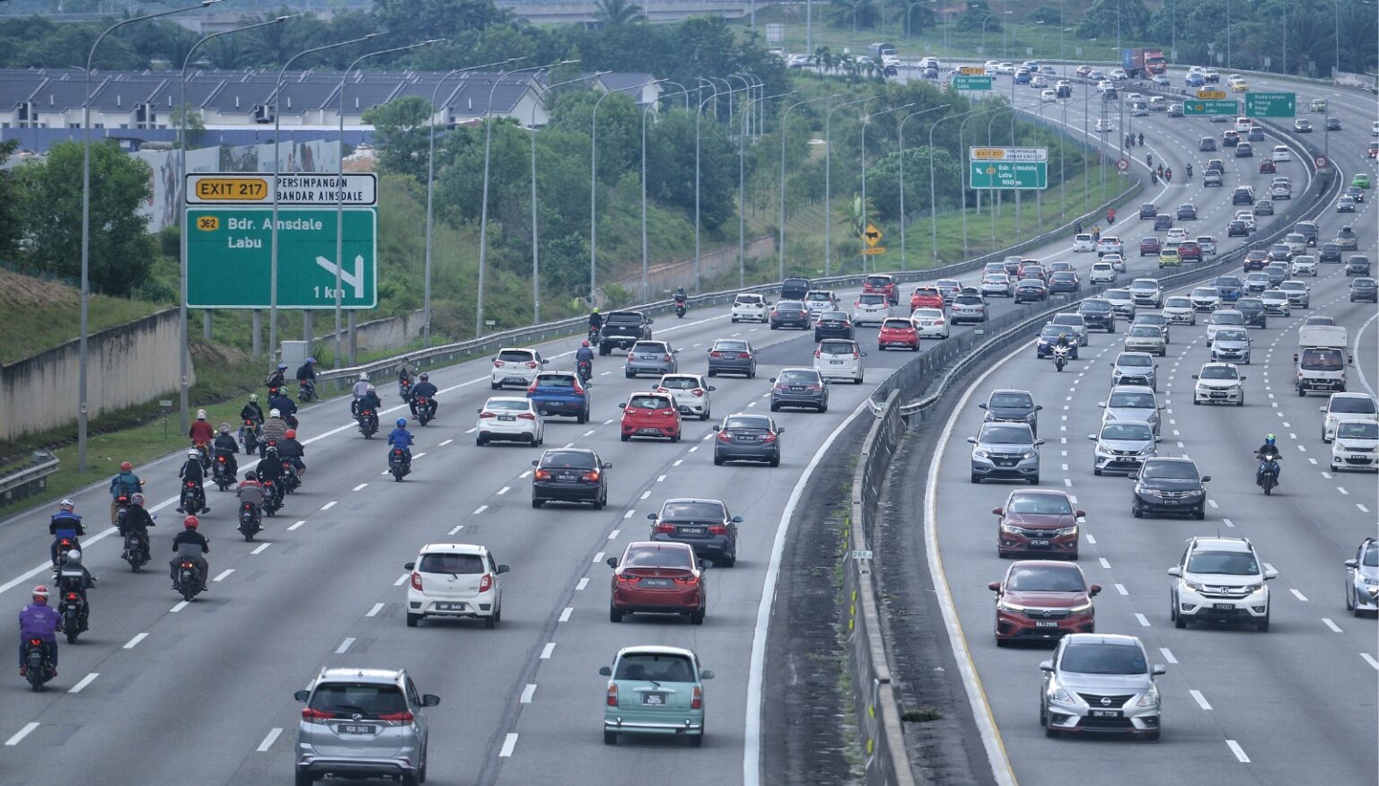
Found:
[{"label": "solid edge line curving along the right side of the median barrier", "polygon": [[972,392],[997,368],[1001,368],[1011,359],[1029,350],[1031,343],[1033,341],[1020,343],[967,386],[963,397],[953,408],[953,414],[949,415],[947,422],[943,425],[943,432],[939,434],[938,445],[934,451],[934,459],[929,462],[929,474],[924,481],[924,550],[929,567],[929,579],[934,583],[939,611],[943,615],[943,627],[953,647],[953,659],[957,663],[958,673],[963,676],[963,688],[967,691],[968,703],[972,707],[972,720],[982,734],[986,760],[992,764],[992,775],[1000,786],[1015,786],[1015,769],[1011,767],[1011,758],[1005,752],[1005,742],[1001,740],[1001,732],[996,727],[992,705],[986,701],[982,677],[976,673],[976,663],[972,662],[967,636],[963,633],[963,622],[957,616],[957,607],[953,603],[953,593],[949,589],[947,574],[943,572],[943,557],[939,554],[938,536],[938,483],[939,469],[943,466],[943,448],[953,437],[953,429],[957,426],[958,416],[967,410]]}]

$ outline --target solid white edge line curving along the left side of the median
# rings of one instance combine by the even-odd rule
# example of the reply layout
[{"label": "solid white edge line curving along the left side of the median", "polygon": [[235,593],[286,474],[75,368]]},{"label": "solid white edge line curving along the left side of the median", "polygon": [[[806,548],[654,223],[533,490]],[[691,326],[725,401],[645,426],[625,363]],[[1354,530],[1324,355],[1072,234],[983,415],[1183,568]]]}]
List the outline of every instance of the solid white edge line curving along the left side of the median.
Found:
[{"label": "solid white edge line curving along the left side of the median", "polygon": [[776,524],[775,541],[771,542],[771,558],[767,561],[767,575],[761,583],[761,600],[757,603],[756,630],[752,634],[752,661],[747,669],[747,718],[742,746],[743,786],[760,786],[761,783],[761,685],[765,674],[767,632],[771,626],[771,607],[775,604],[775,586],[781,575],[781,558],[785,556],[785,539],[790,532],[790,518],[794,516],[794,509],[804,496],[809,477],[814,474],[815,467],[819,466],[819,462],[823,461],[823,455],[829,452],[833,441],[838,439],[838,434],[858,415],[870,411],[870,396],[863,399],[856,410],[852,410],[852,414],[844,418],[814,452],[814,458],[804,467],[800,480],[790,490],[790,498],[786,501],[785,509],[781,512],[781,521]]}]

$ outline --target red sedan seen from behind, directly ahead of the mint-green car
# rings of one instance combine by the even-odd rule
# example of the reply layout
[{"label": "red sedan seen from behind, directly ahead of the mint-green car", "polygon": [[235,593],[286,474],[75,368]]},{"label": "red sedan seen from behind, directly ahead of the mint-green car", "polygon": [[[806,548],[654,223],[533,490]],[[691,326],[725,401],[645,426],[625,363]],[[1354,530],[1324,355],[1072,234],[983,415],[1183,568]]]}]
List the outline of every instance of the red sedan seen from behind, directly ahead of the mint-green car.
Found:
[{"label": "red sedan seen from behind, directly ahead of the mint-green car", "polygon": [[627,543],[622,558],[608,557],[612,568],[612,596],[608,619],[622,622],[634,612],[680,614],[703,625],[709,607],[703,565],[690,543]]}]

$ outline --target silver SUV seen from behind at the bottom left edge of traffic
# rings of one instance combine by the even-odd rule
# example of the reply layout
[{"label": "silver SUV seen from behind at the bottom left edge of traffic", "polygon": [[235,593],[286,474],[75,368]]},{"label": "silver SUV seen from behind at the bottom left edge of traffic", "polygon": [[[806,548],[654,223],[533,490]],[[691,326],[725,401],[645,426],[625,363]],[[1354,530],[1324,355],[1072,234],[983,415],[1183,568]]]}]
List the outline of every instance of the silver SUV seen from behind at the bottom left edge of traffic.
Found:
[{"label": "silver SUV seen from behind at the bottom left edge of traffic", "polygon": [[425,707],[440,698],[418,694],[407,672],[321,669],[312,688],[295,696],[306,705],[296,738],[296,786],[325,775],[426,780]]}]

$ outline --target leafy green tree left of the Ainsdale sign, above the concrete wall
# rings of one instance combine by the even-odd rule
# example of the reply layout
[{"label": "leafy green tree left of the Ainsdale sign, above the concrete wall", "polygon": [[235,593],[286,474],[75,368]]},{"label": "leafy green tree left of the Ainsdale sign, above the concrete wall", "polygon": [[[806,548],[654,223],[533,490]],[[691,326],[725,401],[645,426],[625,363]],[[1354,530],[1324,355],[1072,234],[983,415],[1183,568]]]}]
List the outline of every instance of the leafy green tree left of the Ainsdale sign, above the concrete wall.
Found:
[{"label": "leafy green tree left of the Ainsdale sign, above the concrete wall", "polygon": [[[47,160],[15,172],[28,250],[21,265],[65,279],[81,274],[81,157],[59,142]],[[91,145],[91,287],[128,295],[153,265],[156,247],[139,210],[153,196],[153,172],[113,141]]]}]

